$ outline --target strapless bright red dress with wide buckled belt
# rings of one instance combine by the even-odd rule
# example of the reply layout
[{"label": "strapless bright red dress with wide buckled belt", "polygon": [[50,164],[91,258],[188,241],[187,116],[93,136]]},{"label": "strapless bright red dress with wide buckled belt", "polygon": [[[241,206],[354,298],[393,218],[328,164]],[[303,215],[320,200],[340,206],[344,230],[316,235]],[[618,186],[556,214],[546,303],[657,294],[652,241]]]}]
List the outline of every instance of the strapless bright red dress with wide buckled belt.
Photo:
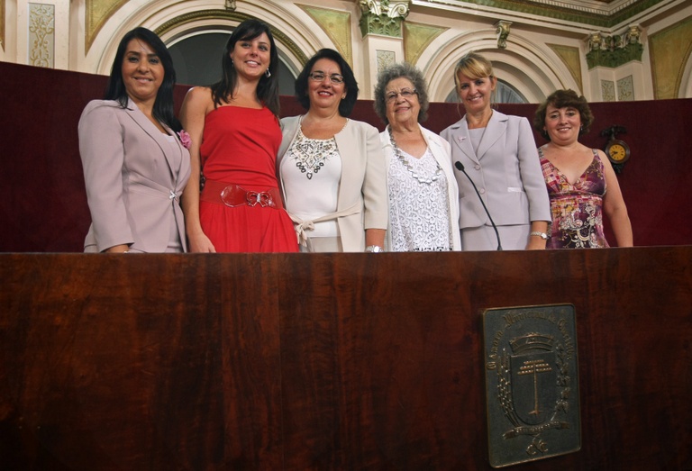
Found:
[{"label": "strapless bright red dress with wide buckled belt", "polygon": [[[281,137],[278,120],[266,107],[220,106],[206,115],[200,154],[207,183],[200,197],[199,218],[217,252],[298,250],[293,222],[278,196],[276,160]],[[240,186],[243,192],[232,206],[219,195],[225,184],[234,191]],[[278,196],[278,201],[274,205],[242,204],[245,191],[250,204],[262,199],[258,194]]]}]

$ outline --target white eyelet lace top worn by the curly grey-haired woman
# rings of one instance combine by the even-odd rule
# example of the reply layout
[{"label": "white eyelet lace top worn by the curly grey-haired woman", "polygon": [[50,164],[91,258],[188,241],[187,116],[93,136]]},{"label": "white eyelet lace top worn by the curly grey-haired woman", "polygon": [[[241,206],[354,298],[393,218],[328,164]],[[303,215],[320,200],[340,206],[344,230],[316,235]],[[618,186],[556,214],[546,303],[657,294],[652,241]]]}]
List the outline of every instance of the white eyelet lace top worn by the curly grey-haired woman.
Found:
[{"label": "white eyelet lace top worn by the curly grey-haired woman", "polygon": [[[387,169],[389,220],[392,244],[390,251],[451,250],[450,207],[447,179],[444,174],[431,183],[438,165],[430,149],[416,159],[399,150],[410,169],[394,157]],[[419,178],[414,177],[414,173]]]}]

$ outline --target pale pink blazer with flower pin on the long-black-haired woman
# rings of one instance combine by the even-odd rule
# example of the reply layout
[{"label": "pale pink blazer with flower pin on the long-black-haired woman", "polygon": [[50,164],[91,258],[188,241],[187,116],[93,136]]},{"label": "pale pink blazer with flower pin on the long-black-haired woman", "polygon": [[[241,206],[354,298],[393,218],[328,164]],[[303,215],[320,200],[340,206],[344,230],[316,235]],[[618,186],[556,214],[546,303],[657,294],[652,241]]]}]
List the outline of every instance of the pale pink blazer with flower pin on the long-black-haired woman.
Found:
[{"label": "pale pink blazer with flower pin on the long-black-haired woman", "polygon": [[180,140],[171,143],[132,100],[126,108],[115,101],[90,102],[78,131],[92,218],[85,251],[129,244],[163,252],[171,224],[187,249],[179,199],[190,177],[190,154]]}]

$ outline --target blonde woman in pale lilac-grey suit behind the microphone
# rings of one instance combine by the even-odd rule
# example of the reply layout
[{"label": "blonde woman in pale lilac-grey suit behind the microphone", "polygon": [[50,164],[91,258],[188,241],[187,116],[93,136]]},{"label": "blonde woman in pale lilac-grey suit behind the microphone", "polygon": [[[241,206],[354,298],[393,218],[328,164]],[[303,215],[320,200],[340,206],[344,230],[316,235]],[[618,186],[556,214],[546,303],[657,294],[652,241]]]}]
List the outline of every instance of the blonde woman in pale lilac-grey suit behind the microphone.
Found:
[{"label": "blonde woman in pale lilac-grey suit behind the microphone", "polygon": [[480,54],[461,58],[454,79],[466,114],[441,136],[459,170],[461,249],[499,249],[498,239],[505,250],[545,249],[551,204],[531,124],[492,109],[497,78]]}]

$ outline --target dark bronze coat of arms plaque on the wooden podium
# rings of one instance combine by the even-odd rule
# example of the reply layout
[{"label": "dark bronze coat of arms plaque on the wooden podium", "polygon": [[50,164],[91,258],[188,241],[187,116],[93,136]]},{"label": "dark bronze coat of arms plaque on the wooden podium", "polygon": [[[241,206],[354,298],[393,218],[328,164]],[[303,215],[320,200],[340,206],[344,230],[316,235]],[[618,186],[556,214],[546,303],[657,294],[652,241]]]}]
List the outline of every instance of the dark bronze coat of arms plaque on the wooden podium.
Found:
[{"label": "dark bronze coat of arms plaque on the wooden podium", "polygon": [[581,448],[577,330],[572,304],[488,309],[485,340],[490,465]]}]

